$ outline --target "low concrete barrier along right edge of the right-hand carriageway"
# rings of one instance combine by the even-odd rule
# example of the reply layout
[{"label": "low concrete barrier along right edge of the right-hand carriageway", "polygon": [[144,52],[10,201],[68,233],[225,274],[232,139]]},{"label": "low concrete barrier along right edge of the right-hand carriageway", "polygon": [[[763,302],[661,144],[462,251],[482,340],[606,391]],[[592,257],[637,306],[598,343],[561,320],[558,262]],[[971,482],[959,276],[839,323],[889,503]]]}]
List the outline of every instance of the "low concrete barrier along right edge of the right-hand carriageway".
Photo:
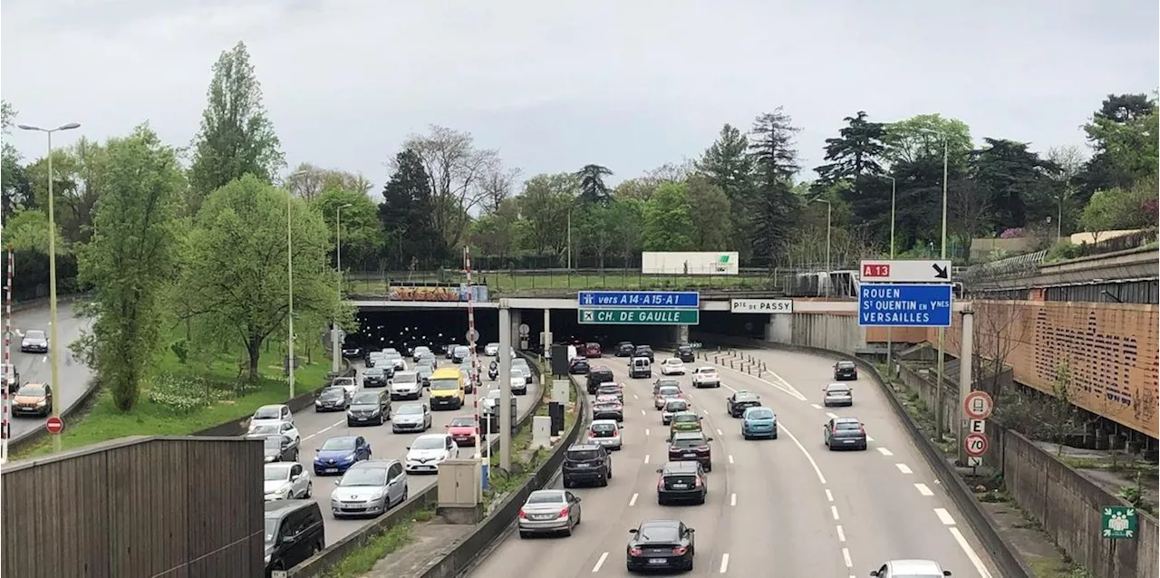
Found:
[{"label": "low concrete barrier along right edge of the right-hand carriageway", "polygon": [[966,521],[971,526],[971,529],[973,529],[976,535],[979,536],[979,541],[983,543],[983,547],[987,549],[987,552],[991,554],[992,559],[994,559],[995,564],[999,566],[1000,576],[1003,576],[1005,578],[1035,578],[1035,572],[1031,571],[1027,563],[1015,552],[1014,548],[1003,541],[1003,539],[999,535],[999,528],[995,526],[994,521],[991,520],[991,516],[988,516],[983,510],[983,505],[979,504],[979,500],[974,498],[974,492],[966,486],[966,483],[963,482],[963,477],[958,475],[958,471],[956,471],[950,463],[948,463],[947,458],[943,456],[942,451],[935,447],[934,442],[931,442],[926,434],[919,429],[919,425],[915,424],[914,419],[911,418],[911,414],[906,412],[906,407],[904,407],[902,403],[898,400],[898,397],[894,396],[893,390],[886,383],[886,380],[882,376],[882,374],[878,373],[878,369],[875,366],[861,357],[829,349],[822,349],[820,347],[771,344],[769,341],[760,341],[756,339],[699,332],[697,332],[697,335],[699,340],[704,342],[809,353],[833,360],[849,360],[857,363],[862,371],[872,376],[875,383],[877,383],[882,389],[883,395],[885,395],[886,399],[890,402],[891,409],[894,410],[894,414],[898,417],[898,420],[902,422],[907,433],[911,435],[911,439],[914,441],[914,445],[918,446],[919,451],[922,453],[922,457],[935,471],[937,478],[942,481],[942,485],[947,489],[947,493],[950,496],[951,501],[954,501],[955,505],[958,506],[959,511],[966,516]]}]

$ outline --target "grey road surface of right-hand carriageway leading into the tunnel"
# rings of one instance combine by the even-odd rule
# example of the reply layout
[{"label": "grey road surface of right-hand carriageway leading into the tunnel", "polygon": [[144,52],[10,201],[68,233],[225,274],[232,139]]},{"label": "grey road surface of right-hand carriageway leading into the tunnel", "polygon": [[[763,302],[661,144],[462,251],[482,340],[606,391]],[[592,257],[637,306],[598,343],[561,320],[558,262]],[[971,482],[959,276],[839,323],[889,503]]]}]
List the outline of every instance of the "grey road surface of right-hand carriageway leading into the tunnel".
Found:
[{"label": "grey road surface of right-hand carriageway leading into the tunnel", "polygon": [[[694,576],[853,578],[893,558],[931,558],[957,577],[999,576],[876,384],[862,376],[853,384],[853,407],[825,409],[831,360],[747,353],[776,373],[756,378],[719,367],[723,386],[702,390],[677,377],[713,438],[704,505],[657,505],[657,468],[667,456],[666,427],[651,397],[659,371],[630,380],[625,359],[606,357],[596,363],[625,384],[628,427],[624,449],[612,454],[610,484],[572,490],[582,499],[583,521],[571,537],[521,540],[513,533],[472,576],[510,576],[514,559],[529,576],[628,576],[628,530],[647,519],[696,528]],[[659,353],[658,363],[665,357]],[[712,363],[686,366],[701,364]],[[725,412],[725,399],[741,389],[776,411],[777,440],[742,440],[740,420]],[[834,416],[865,424],[867,451],[826,449],[822,427]]]}]

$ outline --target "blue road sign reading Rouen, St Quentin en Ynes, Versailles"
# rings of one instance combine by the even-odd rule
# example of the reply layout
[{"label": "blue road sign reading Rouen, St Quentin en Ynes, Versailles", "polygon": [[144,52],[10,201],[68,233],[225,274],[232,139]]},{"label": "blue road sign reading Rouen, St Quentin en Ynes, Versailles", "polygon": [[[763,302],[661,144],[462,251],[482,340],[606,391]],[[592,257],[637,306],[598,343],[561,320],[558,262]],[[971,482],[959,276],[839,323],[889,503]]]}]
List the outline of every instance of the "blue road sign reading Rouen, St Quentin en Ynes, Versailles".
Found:
[{"label": "blue road sign reading Rouen, St Quentin en Ynes, Versailles", "polygon": [[858,325],[863,327],[950,327],[952,286],[862,283]]}]

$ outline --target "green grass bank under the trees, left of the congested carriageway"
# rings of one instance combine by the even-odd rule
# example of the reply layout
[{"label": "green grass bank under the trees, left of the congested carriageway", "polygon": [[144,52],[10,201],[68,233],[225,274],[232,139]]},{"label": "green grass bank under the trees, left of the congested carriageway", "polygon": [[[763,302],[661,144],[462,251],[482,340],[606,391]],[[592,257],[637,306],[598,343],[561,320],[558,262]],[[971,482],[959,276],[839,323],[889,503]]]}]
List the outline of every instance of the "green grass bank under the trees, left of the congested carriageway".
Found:
[{"label": "green grass bank under the trees, left of the congested carriageway", "polygon": [[[237,356],[222,355],[210,363],[195,367],[182,364],[176,354],[167,351],[158,364],[157,376],[142,386],[137,405],[122,412],[107,390],[96,393],[92,409],[65,424],[60,434],[63,449],[78,448],[128,435],[187,435],[230,420],[245,418],[259,406],[282,403],[289,397],[289,386],[278,364],[281,344],[263,348],[259,363],[261,377],[256,383],[239,385]],[[305,357],[295,373],[296,392],[300,393],[322,384],[331,369],[329,360],[314,355],[311,363]],[[165,389],[166,404],[151,399],[151,389]],[[195,393],[191,393],[195,392]],[[189,397],[193,396],[193,397]],[[36,457],[52,453],[52,441],[43,440],[21,449],[16,458]]]}]

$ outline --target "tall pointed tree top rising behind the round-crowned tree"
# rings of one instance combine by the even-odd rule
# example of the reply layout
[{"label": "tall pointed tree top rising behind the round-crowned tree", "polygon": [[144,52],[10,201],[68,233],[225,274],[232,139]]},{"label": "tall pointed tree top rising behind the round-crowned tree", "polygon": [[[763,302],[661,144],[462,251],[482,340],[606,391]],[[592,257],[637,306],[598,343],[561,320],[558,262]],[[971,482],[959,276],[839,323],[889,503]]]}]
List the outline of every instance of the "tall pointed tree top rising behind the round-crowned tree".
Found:
[{"label": "tall pointed tree top rising behind the round-crowned tree", "polygon": [[285,166],[245,43],[218,57],[206,99],[189,167],[190,211],[229,182],[247,174],[273,182]]}]

